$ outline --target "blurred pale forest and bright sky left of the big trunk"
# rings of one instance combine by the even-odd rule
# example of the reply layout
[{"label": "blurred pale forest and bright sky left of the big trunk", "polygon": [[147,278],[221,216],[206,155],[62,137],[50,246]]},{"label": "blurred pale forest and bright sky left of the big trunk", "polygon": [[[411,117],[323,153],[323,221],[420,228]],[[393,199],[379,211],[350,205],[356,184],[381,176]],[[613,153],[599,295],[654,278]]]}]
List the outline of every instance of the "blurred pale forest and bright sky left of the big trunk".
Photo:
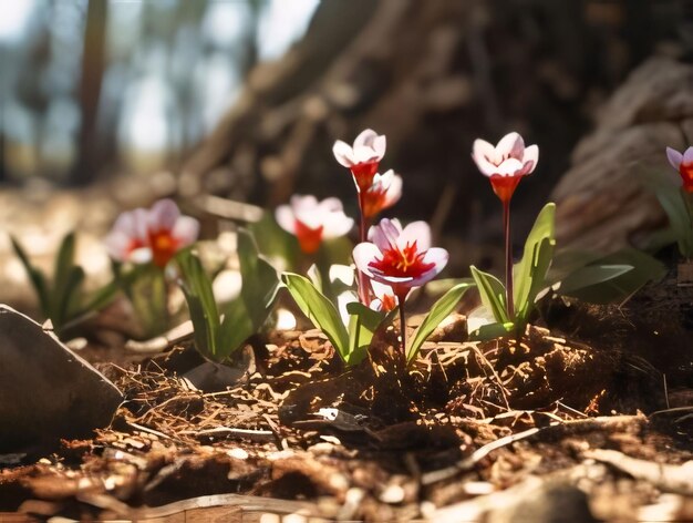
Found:
[{"label": "blurred pale forest and bright sky left of the big trunk", "polygon": [[318,0],[11,0],[0,16],[0,180],[177,168]]}]

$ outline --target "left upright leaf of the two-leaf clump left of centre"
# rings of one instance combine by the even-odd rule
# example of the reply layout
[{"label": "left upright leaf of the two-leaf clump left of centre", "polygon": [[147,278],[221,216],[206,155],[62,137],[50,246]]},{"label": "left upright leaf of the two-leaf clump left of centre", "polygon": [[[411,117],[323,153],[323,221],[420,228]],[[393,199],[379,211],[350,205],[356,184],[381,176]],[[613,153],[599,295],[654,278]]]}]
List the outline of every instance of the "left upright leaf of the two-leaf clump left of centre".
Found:
[{"label": "left upright leaf of the two-leaf clump left of centre", "polygon": [[193,321],[195,346],[207,358],[219,361],[216,342],[220,324],[211,280],[194,253],[178,253],[175,260],[180,275],[180,288]]}]

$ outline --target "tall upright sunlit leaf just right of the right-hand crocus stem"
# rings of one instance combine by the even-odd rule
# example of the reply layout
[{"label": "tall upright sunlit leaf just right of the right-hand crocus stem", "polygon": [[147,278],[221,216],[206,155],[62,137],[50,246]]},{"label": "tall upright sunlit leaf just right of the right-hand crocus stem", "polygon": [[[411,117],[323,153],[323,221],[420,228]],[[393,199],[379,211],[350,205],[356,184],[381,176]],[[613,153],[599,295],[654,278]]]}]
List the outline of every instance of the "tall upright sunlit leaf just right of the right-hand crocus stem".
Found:
[{"label": "tall upright sunlit leaf just right of the right-hand crocus stem", "polygon": [[513,319],[520,330],[534,309],[537,295],[547,287],[547,273],[556,245],[555,215],[556,204],[546,204],[527,236],[523,259],[514,267],[515,318]]}]

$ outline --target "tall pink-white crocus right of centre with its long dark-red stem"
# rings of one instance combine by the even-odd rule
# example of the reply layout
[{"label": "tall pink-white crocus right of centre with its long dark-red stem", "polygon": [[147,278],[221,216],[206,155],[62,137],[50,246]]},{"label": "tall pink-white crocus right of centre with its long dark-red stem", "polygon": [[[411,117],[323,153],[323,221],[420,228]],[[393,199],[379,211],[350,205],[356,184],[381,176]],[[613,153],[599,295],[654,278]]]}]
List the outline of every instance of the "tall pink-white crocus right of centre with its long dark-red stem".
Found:
[{"label": "tall pink-white crocus right of centre with its long dark-red stem", "polygon": [[513,318],[513,248],[510,243],[510,199],[524,176],[530,174],[539,161],[539,147],[529,145],[517,133],[506,134],[494,147],[484,140],[475,140],[472,157],[478,170],[488,176],[496,196],[503,203],[505,232],[505,278],[508,317]]}]

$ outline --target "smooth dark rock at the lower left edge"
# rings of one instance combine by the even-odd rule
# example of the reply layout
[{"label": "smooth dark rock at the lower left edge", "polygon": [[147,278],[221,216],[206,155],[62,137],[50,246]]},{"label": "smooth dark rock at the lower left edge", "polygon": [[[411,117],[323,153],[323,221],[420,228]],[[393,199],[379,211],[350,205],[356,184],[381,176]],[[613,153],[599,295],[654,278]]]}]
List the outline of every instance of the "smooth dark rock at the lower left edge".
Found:
[{"label": "smooth dark rock at the lower left edge", "polygon": [[0,452],[87,438],[111,423],[118,389],[41,326],[0,305]]}]

